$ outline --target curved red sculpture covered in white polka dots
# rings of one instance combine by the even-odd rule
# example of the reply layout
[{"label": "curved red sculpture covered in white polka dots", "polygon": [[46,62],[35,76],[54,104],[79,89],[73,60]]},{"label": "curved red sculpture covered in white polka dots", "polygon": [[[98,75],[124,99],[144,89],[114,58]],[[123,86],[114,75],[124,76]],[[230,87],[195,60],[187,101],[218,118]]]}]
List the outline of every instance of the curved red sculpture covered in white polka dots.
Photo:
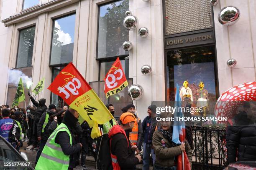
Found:
[{"label": "curved red sculpture covered in white polka dots", "polygon": [[[243,101],[256,101],[256,81],[246,82],[225,91],[218,98],[215,105],[215,116],[232,119],[237,114],[237,108]],[[225,122],[218,122],[225,124]]]}]

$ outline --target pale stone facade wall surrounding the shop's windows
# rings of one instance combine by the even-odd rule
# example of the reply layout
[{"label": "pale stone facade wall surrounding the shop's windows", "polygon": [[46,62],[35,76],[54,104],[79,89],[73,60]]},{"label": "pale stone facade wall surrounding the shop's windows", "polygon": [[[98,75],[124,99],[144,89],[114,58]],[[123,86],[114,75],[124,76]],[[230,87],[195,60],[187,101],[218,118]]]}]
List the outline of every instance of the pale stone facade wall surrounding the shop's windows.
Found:
[{"label": "pale stone facade wall surrounding the shop's windows", "polygon": [[[50,91],[46,87],[50,85],[52,75],[51,67],[49,67],[52,18],[72,12],[76,12],[73,63],[87,82],[98,80],[97,5],[110,0],[55,1],[60,5],[49,7],[48,10],[33,15],[32,18],[15,20],[8,27],[5,27],[2,22],[0,23],[0,60],[3,65],[2,83],[0,83],[0,92],[3,97],[0,97],[0,103],[6,102],[8,67],[15,67],[18,29],[36,25],[32,79],[35,86],[41,78],[46,78],[45,89],[39,93],[39,98],[46,98],[46,104],[49,105]],[[50,0],[41,0],[40,4],[47,2]],[[241,12],[240,20],[229,27],[220,25],[218,22],[220,9],[227,5],[234,5]],[[0,0],[1,6],[0,20],[3,21],[5,18],[20,13],[22,0]],[[129,40],[133,43],[133,50],[129,52],[129,78],[133,78],[133,83],[140,84],[144,89],[144,96],[136,101],[141,118],[147,115],[147,107],[152,100],[165,100],[162,9],[162,0],[150,0],[149,2],[130,0],[130,10],[138,18],[139,24],[136,30],[129,32]],[[256,79],[256,56],[254,55],[256,52],[256,2],[254,0],[220,0],[220,3],[213,9],[221,94],[233,85]],[[148,28],[148,37],[142,38],[138,35],[138,29],[141,27]],[[235,58],[238,62],[232,69],[226,65],[226,61],[230,57]],[[151,65],[152,73],[150,75],[141,73],[141,67],[144,64]]]}]

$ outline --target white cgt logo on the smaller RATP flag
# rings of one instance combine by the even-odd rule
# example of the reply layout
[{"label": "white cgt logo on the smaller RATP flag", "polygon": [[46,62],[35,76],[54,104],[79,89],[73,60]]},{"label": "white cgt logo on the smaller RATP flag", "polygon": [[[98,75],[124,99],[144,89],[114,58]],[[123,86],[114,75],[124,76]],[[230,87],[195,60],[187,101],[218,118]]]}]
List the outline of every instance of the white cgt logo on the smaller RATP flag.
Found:
[{"label": "white cgt logo on the smaller RATP flag", "polygon": [[[110,72],[114,71],[114,73],[112,74],[109,72],[105,80],[105,83],[109,89],[115,88],[118,85],[118,82],[116,82],[116,80],[121,80],[123,77],[123,71],[120,68],[115,66],[112,66],[112,68],[114,69],[110,70]],[[104,86],[104,89],[105,89],[105,86]]]}]

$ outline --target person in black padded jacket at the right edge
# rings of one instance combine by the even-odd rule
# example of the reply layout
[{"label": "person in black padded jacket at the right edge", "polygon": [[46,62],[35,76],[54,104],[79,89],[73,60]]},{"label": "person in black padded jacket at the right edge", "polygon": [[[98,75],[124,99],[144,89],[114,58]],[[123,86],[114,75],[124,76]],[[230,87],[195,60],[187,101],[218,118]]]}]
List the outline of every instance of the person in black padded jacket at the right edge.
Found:
[{"label": "person in black padded jacket at the right edge", "polygon": [[256,161],[256,103],[243,103],[244,111],[228,120],[226,147],[228,163]]}]

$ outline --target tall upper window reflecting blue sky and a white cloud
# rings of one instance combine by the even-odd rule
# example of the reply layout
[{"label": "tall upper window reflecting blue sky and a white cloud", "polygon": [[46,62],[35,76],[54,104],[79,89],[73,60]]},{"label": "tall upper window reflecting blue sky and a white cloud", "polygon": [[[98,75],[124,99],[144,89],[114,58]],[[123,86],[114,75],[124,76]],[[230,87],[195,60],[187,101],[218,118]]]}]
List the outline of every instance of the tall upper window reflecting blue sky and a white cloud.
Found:
[{"label": "tall upper window reflecting blue sky and a white cloud", "polygon": [[54,20],[50,65],[72,62],[74,48],[75,14]]}]

